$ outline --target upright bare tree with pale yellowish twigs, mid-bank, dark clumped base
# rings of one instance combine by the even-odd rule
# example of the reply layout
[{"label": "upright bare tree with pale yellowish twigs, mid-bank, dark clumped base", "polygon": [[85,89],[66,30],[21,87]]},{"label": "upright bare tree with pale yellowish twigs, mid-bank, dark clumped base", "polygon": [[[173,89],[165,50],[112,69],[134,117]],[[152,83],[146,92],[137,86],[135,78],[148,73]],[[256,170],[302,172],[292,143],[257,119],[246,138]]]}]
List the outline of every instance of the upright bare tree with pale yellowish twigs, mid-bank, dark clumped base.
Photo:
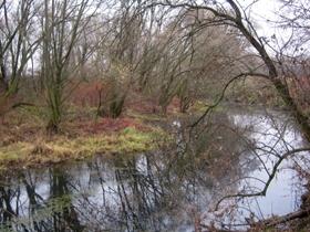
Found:
[{"label": "upright bare tree with pale yellowish twigs, mid-bank, dark clumped base", "polygon": [[106,52],[100,57],[104,61],[101,63],[105,63],[105,74],[101,75],[108,91],[104,104],[99,109],[100,115],[114,118],[123,112],[130,89],[147,72],[143,66],[147,62],[147,35],[153,22],[151,19],[148,25],[148,14],[142,11],[138,2],[120,1],[120,8],[116,9],[111,20],[108,40],[103,44]]}]

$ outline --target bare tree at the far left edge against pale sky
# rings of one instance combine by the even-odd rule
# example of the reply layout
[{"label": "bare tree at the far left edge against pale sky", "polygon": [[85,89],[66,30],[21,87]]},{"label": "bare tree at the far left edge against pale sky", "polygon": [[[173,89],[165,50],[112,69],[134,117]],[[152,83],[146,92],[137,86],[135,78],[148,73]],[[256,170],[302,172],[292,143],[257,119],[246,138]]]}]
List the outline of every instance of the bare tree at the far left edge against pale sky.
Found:
[{"label": "bare tree at the far left edge against pale sky", "polygon": [[21,0],[0,4],[0,106],[19,89],[29,60],[42,38],[35,33],[37,12],[41,4]]}]

